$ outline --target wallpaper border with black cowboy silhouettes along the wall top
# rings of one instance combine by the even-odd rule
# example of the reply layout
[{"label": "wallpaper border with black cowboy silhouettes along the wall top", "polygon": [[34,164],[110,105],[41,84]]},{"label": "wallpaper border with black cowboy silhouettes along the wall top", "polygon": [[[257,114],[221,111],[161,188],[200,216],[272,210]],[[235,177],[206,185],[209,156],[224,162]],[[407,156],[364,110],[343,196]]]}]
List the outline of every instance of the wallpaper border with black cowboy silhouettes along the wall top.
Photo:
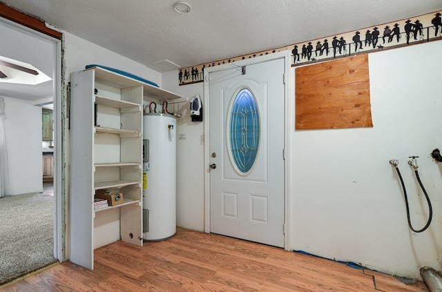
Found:
[{"label": "wallpaper border with black cowboy silhouettes along the wall top", "polygon": [[178,80],[180,86],[202,82],[204,81],[204,68],[268,55],[283,50],[291,50],[291,66],[293,67],[311,64],[316,61],[327,61],[361,53],[365,54],[376,50],[410,46],[437,39],[442,39],[441,12],[432,12],[419,17],[346,32],[342,35],[314,39],[273,50],[265,50],[249,55],[180,68],[178,70]]}]

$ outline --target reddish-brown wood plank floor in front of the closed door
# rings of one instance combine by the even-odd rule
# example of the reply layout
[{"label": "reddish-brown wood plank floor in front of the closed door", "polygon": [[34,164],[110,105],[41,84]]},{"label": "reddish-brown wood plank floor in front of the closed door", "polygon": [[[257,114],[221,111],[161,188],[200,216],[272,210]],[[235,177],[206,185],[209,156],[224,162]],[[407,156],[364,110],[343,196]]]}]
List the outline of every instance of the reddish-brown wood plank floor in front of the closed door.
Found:
[{"label": "reddish-brown wood plank floor in front of the closed door", "polygon": [[[376,287],[375,287],[376,286]],[[0,291],[428,291],[320,257],[178,228],[143,247],[95,251],[95,269],[65,262]]]}]

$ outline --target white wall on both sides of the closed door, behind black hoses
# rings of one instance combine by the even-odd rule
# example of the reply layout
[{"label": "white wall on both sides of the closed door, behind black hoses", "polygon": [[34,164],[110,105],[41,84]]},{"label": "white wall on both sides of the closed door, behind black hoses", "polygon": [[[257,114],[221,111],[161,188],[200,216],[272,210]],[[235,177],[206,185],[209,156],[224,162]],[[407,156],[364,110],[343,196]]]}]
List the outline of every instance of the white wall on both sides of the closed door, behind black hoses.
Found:
[{"label": "white wall on both sides of the closed door, behind black hoses", "polygon": [[[373,128],[294,130],[289,109],[290,249],[409,278],[420,278],[421,266],[441,270],[442,164],[430,157],[442,148],[441,50],[442,41],[434,41],[369,55]],[[176,71],[164,73],[163,84],[184,96],[203,93],[202,83],[178,86]],[[294,80],[290,86],[294,104]],[[177,221],[198,231],[204,230],[203,132],[189,113],[177,127],[186,135],[177,144]],[[427,206],[407,164],[412,155],[419,156],[419,176],[433,204],[424,233],[408,228],[401,184],[389,163],[400,161],[412,222],[421,228]]]}]

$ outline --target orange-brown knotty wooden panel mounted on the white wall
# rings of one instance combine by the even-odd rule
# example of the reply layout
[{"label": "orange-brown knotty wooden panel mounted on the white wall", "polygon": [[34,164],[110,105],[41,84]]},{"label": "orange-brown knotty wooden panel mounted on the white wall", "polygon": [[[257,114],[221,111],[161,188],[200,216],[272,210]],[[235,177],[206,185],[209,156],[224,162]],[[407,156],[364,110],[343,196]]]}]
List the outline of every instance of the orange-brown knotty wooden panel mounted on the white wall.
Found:
[{"label": "orange-brown knotty wooden panel mounted on the white wall", "polygon": [[372,127],[368,55],[296,68],[296,130]]}]

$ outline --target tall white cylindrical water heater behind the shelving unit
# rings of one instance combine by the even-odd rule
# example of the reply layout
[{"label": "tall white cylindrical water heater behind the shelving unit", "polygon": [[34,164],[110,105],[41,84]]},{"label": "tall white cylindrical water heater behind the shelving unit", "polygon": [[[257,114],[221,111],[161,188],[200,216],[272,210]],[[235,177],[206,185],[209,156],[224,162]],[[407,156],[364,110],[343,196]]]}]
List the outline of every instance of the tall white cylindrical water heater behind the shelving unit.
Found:
[{"label": "tall white cylindrical water heater behind the shelving unit", "polygon": [[143,239],[165,240],[176,232],[176,119],[143,115]]}]

